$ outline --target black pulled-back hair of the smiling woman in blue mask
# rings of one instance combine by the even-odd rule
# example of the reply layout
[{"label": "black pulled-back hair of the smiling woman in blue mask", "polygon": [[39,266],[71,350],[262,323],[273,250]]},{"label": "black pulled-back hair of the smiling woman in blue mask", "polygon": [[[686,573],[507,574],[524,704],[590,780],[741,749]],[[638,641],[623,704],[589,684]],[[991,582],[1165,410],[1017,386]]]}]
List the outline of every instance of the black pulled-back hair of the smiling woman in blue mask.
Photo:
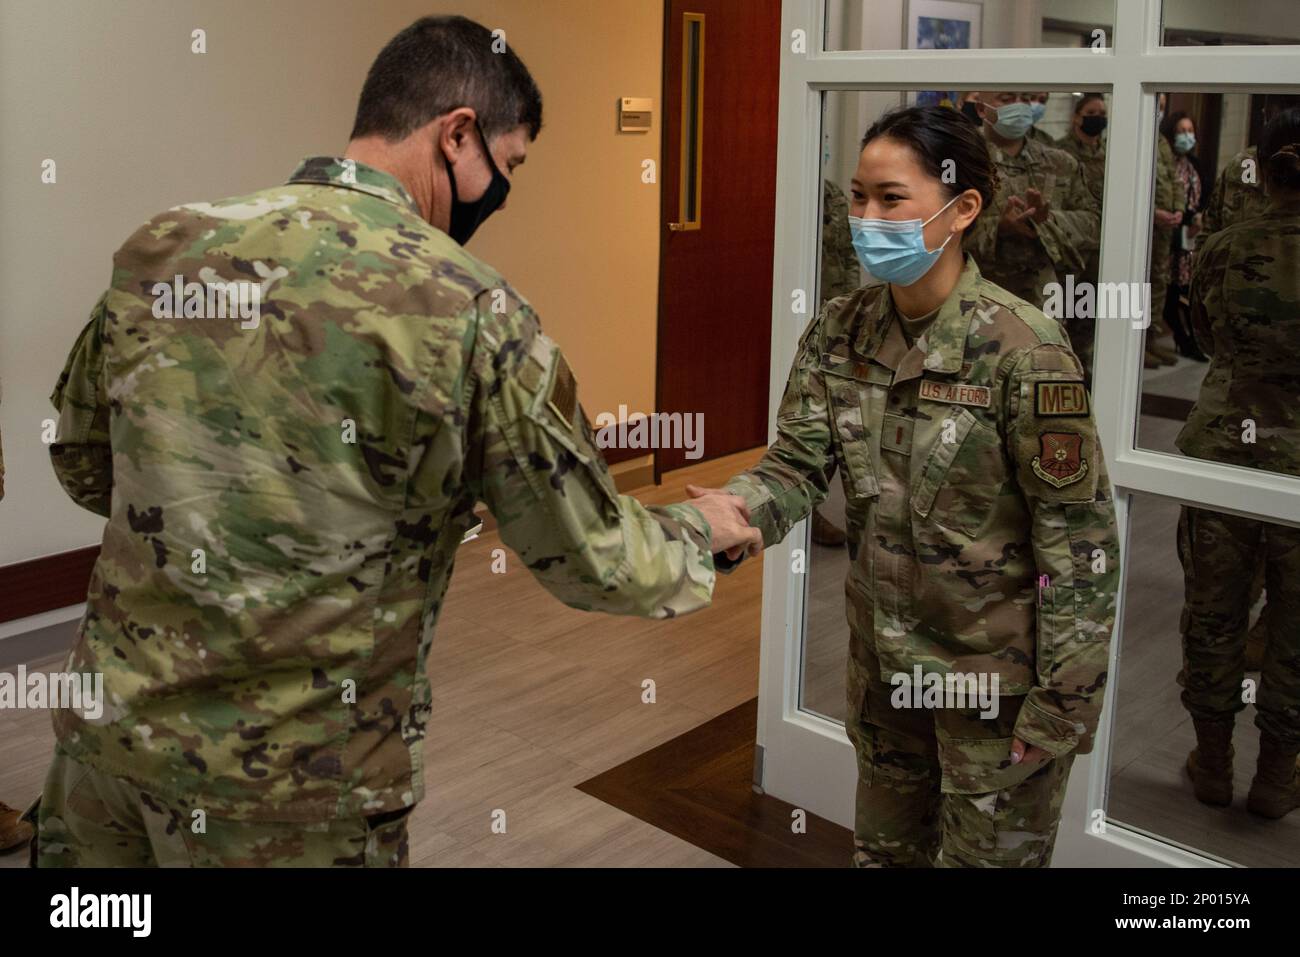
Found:
[{"label": "black pulled-back hair of the smiling woman in blue mask", "polygon": [[[949,107],[906,107],[885,113],[862,137],[862,150],[878,137],[911,147],[926,172],[940,181],[949,196],[975,190],[984,208],[993,205],[998,176],[988,140],[971,121]],[[944,178],[944,161],[953,160],[952,179]],[[975,224],[972,222],[971,226]],[[967,226],[966,229],[970,229]]]}]

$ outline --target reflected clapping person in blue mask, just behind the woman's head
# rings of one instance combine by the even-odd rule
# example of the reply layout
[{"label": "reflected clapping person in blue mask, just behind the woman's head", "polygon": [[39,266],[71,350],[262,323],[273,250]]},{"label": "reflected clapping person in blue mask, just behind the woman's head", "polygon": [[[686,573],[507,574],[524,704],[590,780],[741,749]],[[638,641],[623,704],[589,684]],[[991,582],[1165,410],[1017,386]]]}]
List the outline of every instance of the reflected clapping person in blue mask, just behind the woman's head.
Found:
[{"label": "reflected clapping person in blue mask, just behind the woman's head", "polygon": [[1063,283],[1070,273],[1079,281],[1088,252],[1098,246],[1101,207],[1072,156],[1027,137],[1032,96],[979,95],[983,133],[1002,187],[965,246],[989,281],[1041,307],[1049,283]]}]

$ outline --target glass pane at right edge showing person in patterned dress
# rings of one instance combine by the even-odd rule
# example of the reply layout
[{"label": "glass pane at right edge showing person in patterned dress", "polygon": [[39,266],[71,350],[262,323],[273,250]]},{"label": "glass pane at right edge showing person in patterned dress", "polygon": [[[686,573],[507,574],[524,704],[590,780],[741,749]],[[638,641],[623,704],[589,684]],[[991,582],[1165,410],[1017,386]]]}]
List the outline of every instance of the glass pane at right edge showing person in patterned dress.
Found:
[{"label": "glass pane at right edge showing person in patterned dress", "polygon": [[1300,95],[1157,103],[1138,445],[1300,475]]}]

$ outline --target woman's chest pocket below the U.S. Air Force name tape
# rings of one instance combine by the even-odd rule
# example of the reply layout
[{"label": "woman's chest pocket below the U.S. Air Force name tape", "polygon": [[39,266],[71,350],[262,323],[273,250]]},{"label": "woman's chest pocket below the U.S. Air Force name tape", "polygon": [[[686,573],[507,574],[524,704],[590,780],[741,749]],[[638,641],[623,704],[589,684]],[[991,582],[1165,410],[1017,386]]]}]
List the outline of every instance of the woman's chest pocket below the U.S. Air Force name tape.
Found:
[{"label": "woman's chest pocket below the U.S. Air Force name tape", "polygon": [[[920,452],[913,449],[913,455]],[[913,484],[913,511],[974,538],[988,521],[1006,477],[997,429],[983,424],[968,408],[950,406]]]}]

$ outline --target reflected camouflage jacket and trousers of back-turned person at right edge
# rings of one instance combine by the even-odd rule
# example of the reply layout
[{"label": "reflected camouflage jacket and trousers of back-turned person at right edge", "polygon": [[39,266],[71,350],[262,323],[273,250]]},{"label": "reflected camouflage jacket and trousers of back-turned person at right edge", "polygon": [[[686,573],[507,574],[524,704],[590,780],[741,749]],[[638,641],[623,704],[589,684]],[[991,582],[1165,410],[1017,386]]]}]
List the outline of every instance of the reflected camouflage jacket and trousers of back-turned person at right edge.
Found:
[{"label": "reflected camouflage jacket and trousers of back-turned person at right edge", "polygon": [[[1178,434],[1187,455],[1300,476],[1300,203],[1269,207],[1206,238],[1191,286],[1192,326],[1210,356]],[[1248,438],[1247,423],[1254,428]],[[1300,529],[1184,507],[1183,702],[1206,720],[1245,707],[1252,568],[1264,560],[1269,640],[1256,723],[1300,744]]]}]

